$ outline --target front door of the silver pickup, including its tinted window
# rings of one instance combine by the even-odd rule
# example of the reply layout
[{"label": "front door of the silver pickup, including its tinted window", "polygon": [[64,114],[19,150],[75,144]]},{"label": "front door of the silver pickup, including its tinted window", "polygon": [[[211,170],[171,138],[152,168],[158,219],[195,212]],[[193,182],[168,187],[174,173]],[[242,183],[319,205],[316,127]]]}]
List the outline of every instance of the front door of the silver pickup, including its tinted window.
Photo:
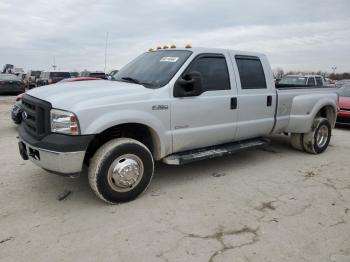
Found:
[{"label": "front door of the silver pickup, including its tinted window", "polygon": [[229,74],[232,65],[227,61],[224,54],[201,54],[182,74],[184,76],[194,71],[200,73],[202,93],[172,99],[173,152],[222,144],[234,139],[237,112],[232,109],[231,102],[236,97],[237,89],[233,76],[230,78]]}]

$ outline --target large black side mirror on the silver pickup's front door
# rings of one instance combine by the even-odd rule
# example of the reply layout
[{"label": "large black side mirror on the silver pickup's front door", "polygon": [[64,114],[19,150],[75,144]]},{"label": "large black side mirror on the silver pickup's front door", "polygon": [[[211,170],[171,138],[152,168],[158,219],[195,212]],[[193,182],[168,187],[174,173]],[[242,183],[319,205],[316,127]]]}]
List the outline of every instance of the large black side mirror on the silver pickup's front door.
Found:
[{"label": "large black side mirror on the silver pickup's front door", "polygon": [[202,76],[198,71],[192,71],[176,80],[174,97],[199,96],[202,93]]}]

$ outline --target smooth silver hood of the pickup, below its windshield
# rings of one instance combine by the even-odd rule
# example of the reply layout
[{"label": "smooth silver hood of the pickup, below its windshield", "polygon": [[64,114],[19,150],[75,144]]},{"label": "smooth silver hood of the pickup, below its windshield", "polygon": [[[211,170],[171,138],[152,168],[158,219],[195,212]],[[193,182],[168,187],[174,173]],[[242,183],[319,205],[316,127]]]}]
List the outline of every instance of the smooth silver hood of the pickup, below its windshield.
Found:
[{"label": "smooth silver hood of the pickup, below its windshield", "polygon": [[108,80],[57,83],[32,89],[28,95],[48,101],[52,107],[72,110],[83,106],[99,106],[118,101],[147,98],[151,89],[142,85]]}]

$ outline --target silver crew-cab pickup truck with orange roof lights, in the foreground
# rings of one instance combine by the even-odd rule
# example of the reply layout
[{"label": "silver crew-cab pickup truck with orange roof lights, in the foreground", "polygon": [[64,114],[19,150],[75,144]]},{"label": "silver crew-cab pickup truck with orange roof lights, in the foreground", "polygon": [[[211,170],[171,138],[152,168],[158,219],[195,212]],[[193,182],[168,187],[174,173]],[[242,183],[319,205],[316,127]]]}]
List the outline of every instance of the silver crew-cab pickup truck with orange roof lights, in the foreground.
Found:
[{"label": "silver crew-cab pickup truck with orange roof lights, in the foreground", "polygon": [[312,154],[328,146],[333,88],[276,88],[265,55],[210,48],[149,51],[114,81],[44,86],[23,96],[19,150],[43,169],[88,166],[96,195],[129,201],[150,184],[154,161],[179,165],[264,145],[288,133]]}]

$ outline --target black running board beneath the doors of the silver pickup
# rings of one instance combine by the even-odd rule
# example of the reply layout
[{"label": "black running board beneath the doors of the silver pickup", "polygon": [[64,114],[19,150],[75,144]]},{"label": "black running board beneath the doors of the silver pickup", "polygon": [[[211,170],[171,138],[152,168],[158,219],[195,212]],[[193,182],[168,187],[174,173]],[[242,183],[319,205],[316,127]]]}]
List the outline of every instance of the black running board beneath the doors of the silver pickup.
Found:
[{"label": "black running board beneath the doors of the silver pickup", "polygon": [[269,142],[270,140],[266,138],[257,138],[217,146],[210,146],[169,155],[163,159],[163,162],[168,165],[182,165],[203,159],[230,155],[238,150],[257,146],[264,146]]}]

